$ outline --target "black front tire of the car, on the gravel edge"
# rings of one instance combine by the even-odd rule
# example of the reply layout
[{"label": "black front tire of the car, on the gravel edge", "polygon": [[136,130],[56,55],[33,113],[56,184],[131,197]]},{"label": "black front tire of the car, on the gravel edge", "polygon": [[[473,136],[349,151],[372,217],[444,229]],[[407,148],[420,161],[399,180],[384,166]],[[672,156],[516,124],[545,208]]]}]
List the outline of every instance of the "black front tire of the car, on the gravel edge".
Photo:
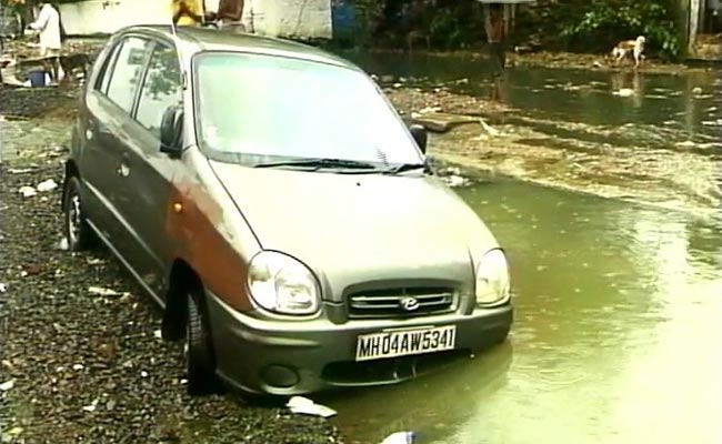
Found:
[{"label": "black front tire of the car, on the gravel edge", "polygon": [[185,296],[185,371],[188,394],[191,396],[220,393],[220,383],[215,376],[215,354],[202,293],[202,290],[189,291]]}]

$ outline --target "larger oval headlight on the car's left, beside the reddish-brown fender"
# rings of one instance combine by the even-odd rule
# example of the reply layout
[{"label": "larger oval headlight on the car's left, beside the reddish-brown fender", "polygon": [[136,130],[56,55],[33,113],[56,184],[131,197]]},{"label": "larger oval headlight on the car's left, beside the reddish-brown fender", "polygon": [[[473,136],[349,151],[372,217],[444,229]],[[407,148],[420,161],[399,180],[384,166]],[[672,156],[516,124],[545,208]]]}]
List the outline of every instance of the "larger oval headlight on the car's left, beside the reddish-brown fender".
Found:
[{"label": "larger oval headlight on the car's left, beside the reddish-brown fender", "polygon": [[312,314],[319,310],[319,287],[311,271],[285,254],[263,251],[251,260],[248,285],[265,310],[283,314]]}]

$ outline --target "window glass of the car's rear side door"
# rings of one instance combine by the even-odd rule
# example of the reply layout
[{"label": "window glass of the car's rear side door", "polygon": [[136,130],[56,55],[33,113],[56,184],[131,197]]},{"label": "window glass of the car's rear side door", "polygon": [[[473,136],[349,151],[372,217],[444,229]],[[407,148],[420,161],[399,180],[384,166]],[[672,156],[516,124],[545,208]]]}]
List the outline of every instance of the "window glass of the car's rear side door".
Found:
[{"label": "window glass of the car's rear side door", "polygon": [[148,53],[148,40],[138,37],[127,38],[121,43],[110,75],[107,95],[128,113],[133,108],[136,91],[138,91]]}]

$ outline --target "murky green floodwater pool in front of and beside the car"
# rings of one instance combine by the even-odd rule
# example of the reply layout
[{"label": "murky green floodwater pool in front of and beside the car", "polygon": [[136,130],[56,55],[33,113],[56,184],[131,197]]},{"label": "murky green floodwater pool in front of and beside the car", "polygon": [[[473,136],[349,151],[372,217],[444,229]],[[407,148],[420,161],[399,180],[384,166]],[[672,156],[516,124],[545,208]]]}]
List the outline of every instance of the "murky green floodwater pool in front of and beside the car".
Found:
[{"label": "murky green floodwater pool in front of and beside the car", "polygon": [[352,438],[722,442],[719,222],[510,182],[460,193],[509,252],[510,344],[331,397]]}]

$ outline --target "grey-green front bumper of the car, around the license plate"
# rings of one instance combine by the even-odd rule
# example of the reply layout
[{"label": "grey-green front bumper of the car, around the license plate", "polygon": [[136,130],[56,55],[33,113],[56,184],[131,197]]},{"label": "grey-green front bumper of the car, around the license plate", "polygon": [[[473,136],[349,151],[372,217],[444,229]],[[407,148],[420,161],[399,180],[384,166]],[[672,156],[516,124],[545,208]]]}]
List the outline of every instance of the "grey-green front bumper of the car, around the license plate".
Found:
[{"label": "grey-green front bumper of the car, around the license plate", "polygon": [[354,362],[357,337],[391,329],[457,325],[455,352],[475,352],[503,342],[512,305],[409,320],[259,320],[208,294],[210,325],[221,380],[251,394],[294,395],[342,386],[382,385],[413,377],[414,355]]}]

